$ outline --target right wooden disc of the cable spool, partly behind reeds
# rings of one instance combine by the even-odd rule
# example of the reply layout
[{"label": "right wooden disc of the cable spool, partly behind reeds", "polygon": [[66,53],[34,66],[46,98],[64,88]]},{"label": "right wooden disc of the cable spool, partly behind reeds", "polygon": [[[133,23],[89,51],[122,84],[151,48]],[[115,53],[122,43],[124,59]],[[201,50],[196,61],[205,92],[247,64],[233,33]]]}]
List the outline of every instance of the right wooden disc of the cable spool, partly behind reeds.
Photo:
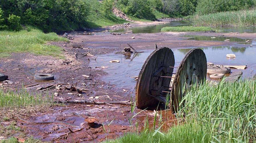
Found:
[{"label": "right wooden disc of the cable spool, partly behind reeds", "polygon": [[207,60],[201,49],[191,49],[181,61],[172,83],[172,110],[177,111],[186,88],[205,80]]}]

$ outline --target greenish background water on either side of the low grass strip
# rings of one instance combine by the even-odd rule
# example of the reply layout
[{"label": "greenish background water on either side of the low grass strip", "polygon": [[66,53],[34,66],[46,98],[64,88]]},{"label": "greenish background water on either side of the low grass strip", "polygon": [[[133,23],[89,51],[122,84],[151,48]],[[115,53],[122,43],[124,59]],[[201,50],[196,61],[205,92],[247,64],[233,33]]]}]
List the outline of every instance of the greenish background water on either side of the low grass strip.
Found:
[{"label": "greenish background water on either side of the low grass strip", "polygon": [[[127,31],[133,31],[133,33],[158,33],[161,32],[163,27],[168,26],[190,26],[191,21],[174,21],[160,25],[144,25],[140,27],[121,28],[113,30],[111,32],[127,33]],[[217,27],[217,30],[223,33],[238,32],[238,33],[256,33],[256,27]]]}]

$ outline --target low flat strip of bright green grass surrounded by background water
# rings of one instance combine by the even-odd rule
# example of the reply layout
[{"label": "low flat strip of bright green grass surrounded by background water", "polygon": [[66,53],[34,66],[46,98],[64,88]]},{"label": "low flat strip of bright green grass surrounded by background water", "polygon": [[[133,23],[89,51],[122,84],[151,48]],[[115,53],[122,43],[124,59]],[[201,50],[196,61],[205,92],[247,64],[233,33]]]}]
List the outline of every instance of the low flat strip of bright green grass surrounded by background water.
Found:
[{"label": "low flat strip of bright green grass surrounded by background water", "polygon": [[180,27],[163,27],[161,29],[161,32],[168,32],[168,31],[172,31],[172,32],[199,32],[199,31],[216,31],[214,28],[212,27],[203,27],[203,26],[199,26],[199,27],[193,27],[193,26],[180,26]]}]

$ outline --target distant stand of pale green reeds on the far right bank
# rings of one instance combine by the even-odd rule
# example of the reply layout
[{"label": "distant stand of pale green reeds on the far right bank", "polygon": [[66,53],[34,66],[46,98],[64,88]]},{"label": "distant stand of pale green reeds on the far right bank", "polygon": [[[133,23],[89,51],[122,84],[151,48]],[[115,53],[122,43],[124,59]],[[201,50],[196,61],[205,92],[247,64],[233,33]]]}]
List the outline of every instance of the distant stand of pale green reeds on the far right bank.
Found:
[{"label": "distant stand of pale green reeds on the far right bank", "polygon": [[218,12],[218,13],[208,14],[208,15],[195,15],[195,16],[192,16],[191,20],[194,26],[210,26],[210,27],[256,26],[256,8],[252,10]]}]

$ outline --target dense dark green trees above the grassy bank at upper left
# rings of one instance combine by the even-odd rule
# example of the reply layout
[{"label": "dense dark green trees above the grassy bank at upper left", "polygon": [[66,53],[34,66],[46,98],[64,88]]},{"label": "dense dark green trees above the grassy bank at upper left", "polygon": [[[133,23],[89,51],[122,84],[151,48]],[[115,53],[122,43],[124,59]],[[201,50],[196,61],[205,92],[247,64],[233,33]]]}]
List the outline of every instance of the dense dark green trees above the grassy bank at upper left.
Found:
[{"label": "dense dark green trees above the grassy bank at upper left", "polygon": [[11,30],[28,24],[48,32],[82,28],[90,6],[82,0],[0,0],[0,8],[0,24]]}]

